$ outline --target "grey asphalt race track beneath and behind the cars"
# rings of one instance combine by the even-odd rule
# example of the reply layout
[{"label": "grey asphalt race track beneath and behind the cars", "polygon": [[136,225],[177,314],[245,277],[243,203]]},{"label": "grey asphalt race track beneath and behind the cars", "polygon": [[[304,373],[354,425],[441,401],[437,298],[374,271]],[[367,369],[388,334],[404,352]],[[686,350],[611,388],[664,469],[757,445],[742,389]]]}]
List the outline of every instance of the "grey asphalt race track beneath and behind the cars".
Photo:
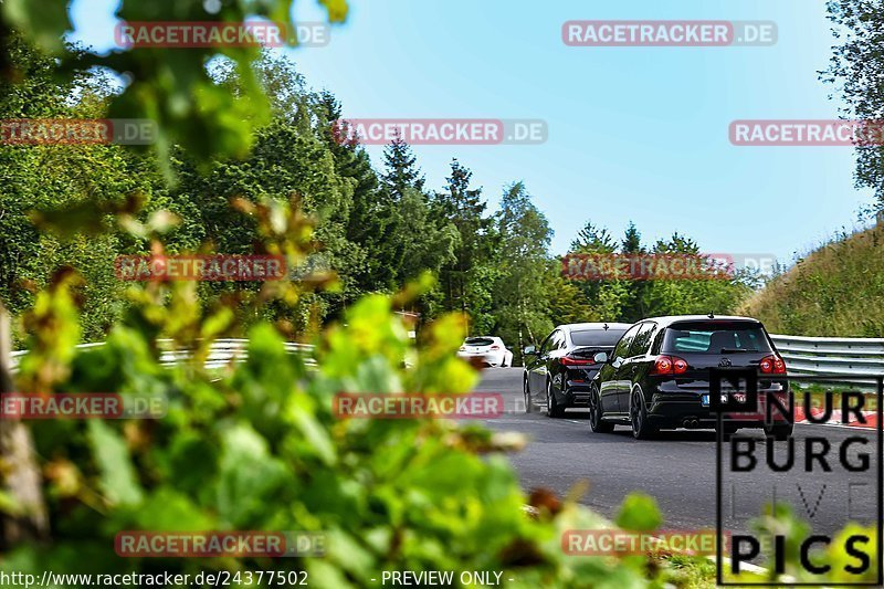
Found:
[{"label": "grey asphalt race track beneath and behind the cars", "polygon": [[[657,438],[638,441],[627,427],[613,433],[592,433],[586,411],[569,409],[562,419],[544,413],[526,414],[522,397],[522,368],[493,368],[483,372],[476,391],[499,392],[507,412],[485,420],[496,431],[517,431],[529,438],[525,450],[512,455],[526,491],[547,487],[565,495],[579,481],[590,484],[580,499],[602,515],[614,518],[623,497],[642,491],[656,497],[666,529],[714,528],[716,523],[716,433],[706,430],[661,432]],[[877,519],[877,435],[874,430],[828,425],[796,427],[794,466],[772,473],[765,460],[766,441],[760,430],[740,430],[739,435],[756,439],[758,467],[753,472],[730,472],[729,446],[723,446],[724,528],[732,533],[750,529],[749,519],[776,494],[808,520],[817,534],[831,535],[849,519],[873,525]],[[867,452],[870,467],[849,472],[839,460],[844,440],[860,437],[867,445],[852,444],[845,451],[851,464]],[[811,438],[825,438],[831,444],[824,472],[819,461],[806,470],[804,444]],[[822,444],[824,442],[812,442]],[[819,448],[819,446],[818,446]],[[776,442],[774,456],[785,460],[788,443]],[[811,515],[812,514],[812,515]]]}]

